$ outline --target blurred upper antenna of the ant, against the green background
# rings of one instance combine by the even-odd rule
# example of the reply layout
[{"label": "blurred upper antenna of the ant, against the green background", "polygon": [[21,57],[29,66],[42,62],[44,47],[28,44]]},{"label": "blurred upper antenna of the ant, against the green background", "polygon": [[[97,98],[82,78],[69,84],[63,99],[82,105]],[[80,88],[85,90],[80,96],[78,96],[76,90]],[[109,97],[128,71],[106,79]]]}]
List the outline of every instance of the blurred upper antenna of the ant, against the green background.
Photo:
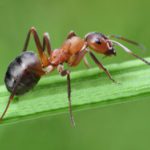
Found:
[{"label": "blurred upper antenna of the ant, against the green background", "polygon": [[135,41],[126,39],[126,38],[123,37],[123,36],[120,36],[120,35],[110,35],[109,38],[116,38],[116,39],[119,39],[119,40],[128,42],[128,43],[130,43],[130,44],[133,44],[133,45],[135,45],[135,46],[141,48],[142,50],[145,50],[144,45],[142,45],[142,44],[140,44],[140,43],[138,43],[138,42],[135,42]]}]

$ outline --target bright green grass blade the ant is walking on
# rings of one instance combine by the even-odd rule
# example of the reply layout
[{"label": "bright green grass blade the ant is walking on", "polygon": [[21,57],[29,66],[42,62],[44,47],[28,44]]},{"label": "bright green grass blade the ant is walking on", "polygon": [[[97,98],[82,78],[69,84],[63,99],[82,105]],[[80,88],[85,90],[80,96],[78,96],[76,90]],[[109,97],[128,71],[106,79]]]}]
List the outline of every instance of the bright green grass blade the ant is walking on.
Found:
[{"label": "bright green grass blade the ant is walking on", "polygon": [[[150,66],[143,62],[134,60],[106,68],[119,84],[112,83],[98,68],[71,73],[73,110],[123,103],[128,97],[150,93]],[[0,86],[0,114],[7,104],[8,96],[5,86]],[[66,78],[48,75],[32,91],[15,98],[2,124],[66,112],[67,109]]]}]

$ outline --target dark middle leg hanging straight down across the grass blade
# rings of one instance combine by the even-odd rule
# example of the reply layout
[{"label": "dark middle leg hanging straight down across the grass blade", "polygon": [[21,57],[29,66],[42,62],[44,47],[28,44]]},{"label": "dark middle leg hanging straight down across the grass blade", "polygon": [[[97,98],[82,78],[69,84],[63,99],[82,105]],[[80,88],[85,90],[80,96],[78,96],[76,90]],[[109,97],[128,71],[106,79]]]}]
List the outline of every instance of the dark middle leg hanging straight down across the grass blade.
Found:
[{"label": "dark middle leg hanging straight down across the grass blade", "polygon": [[71,104],[71,80],[70,80],[70,71],[64,70],[63,65],[58,66],[58,71],[61,76],[67,76],[67,91],[68,91],[68,102],[69,102],[69,113],[70,113],[70,120],[73,127],[75,127],[75,121],[72,113],[72,104]]}]

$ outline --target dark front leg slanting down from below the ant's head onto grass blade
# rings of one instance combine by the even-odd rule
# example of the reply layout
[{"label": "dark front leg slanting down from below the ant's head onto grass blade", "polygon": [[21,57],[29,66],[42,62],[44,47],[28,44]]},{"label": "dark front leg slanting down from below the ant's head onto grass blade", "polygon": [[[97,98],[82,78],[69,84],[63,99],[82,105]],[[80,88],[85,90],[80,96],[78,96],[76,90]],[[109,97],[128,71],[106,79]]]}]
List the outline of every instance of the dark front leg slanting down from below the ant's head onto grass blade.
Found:
[{"label": "dark front leg slanting down from below the ant's head onto grass blade", "polygon": [[113,82],[116,82],[116,81],[112,78],[112,76],[111,76],[111,74],[109,73],[109,71],[103,66],[103,64],[102,64],[101,62],[98,61],[98,59],[95,57],[95,55],[94,55],[91,51],[89,51],[89,54],[90,54],[91,58],[94,60],[94,62],[98,65],[98,67],[99,67],[100,69],[102,69],[102,70],[107,74],[107,76],[109,77],[109,79],[112,80]]}]

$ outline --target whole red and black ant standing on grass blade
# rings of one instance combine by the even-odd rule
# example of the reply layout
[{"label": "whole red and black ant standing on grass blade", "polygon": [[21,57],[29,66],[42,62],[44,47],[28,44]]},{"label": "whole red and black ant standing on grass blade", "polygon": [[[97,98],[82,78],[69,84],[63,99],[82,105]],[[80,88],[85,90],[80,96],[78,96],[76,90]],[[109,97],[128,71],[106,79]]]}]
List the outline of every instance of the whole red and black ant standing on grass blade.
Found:
[{"label": "whole red and black ant standing on grass blade", "polygon": [[[39,57],[34,52],[27,51],[31,35],[33,35]],[[71,107],[70,71],[64,69],[64,63],[67,63],[68,66],[74,67],[77,66],[83,59],[85,65],[89,66],[85,57],[86,53],[88,53],[98,67],[106,73],[109,79],[115,82],[109,71],[95,57],[92,50],[105,56],[111,56],[116,55],[114,45],[118,45],[125,52],[150,65],[150,62],[139,57],[121,43],[111,40],[110,38],[120,39],[143,48],[141,44],[128,40],[122,36],[111,35],[107,37],[102,33],[91,32],[85,35],[82,39],[71,31],[62,46],[52,51],[48,33],[44,33],[43,43],[41,43],[36,29],[31,27],[25,40],[23,52],[10,63],[5,75],[5,84],[11,94],[6,108],[0,117],[0,121],[2,121],[5,116],[15,95],[22,95],[30,91],[38,83],[41,76],[57,69],[61,76],[67,76],[70,119],[72,125],[75,126]]]}]

